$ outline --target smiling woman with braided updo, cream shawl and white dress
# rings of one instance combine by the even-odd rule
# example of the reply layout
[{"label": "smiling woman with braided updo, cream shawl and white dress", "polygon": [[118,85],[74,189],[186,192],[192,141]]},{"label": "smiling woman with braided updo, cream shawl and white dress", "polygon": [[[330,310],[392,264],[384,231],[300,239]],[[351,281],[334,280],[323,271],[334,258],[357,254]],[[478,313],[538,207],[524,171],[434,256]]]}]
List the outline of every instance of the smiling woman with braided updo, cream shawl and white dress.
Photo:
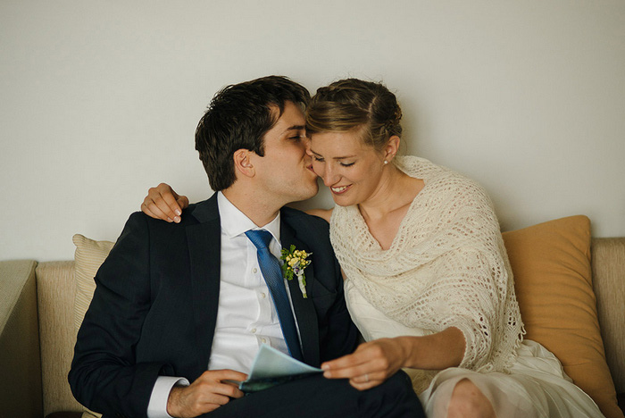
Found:
[{"label": "smiling woman with braided updo, cream shawl and white dress", "polygon": [[[346,302],[365,339],[321,367],[370,389],[412,377],[429,417],[598,417],[558,359],[523,339],[512,271],[483,188],[398,156],[402,112],[379,83],[343,79],[306,109],[312,168],[337,204],[330,223]],[[178,202],[178,203],[177,203]],[[142,210],[170,222],[187,199],[167,185]]]}]

